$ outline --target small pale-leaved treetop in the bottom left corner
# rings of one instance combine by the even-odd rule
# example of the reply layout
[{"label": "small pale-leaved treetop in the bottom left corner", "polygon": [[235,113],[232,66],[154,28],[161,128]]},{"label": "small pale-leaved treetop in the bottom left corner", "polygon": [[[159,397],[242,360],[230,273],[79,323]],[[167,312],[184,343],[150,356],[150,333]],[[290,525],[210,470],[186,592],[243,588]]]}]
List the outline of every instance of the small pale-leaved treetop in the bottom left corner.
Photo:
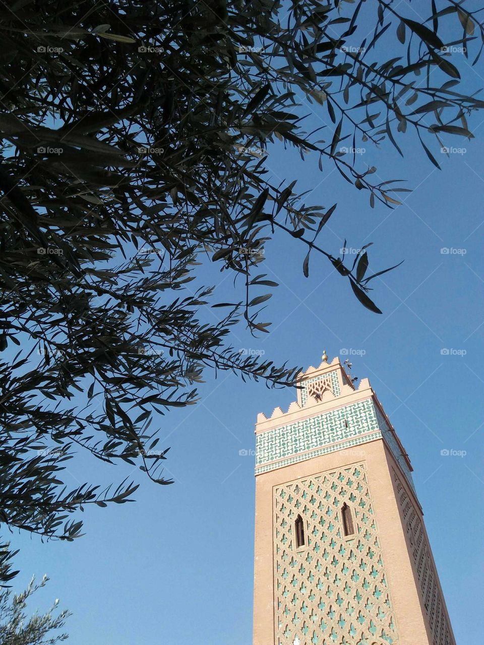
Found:
[{"label": "small pale-leaved treetop in the bottom left corner", "polygon": [[59,633],[70,615],[67,610],[58,610],[59,600],[43,615],[37,612],[30,618],[26,615],[28,601],[47,582],[45,575],[39,584],[32,578],[22,593],[0,591],[0,645],[54,645],[68,638],[66,633]]}]

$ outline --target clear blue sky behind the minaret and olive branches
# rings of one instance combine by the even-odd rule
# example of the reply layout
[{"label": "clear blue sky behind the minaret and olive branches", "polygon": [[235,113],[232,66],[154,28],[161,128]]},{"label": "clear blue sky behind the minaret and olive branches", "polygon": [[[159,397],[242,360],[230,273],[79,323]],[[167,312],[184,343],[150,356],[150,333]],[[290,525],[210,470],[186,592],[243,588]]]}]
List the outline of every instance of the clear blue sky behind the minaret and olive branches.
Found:
[{"label": "clear blue sky behind the minaret and olive branches", "polygon": [[[467,72],[469,86],[483,86],[482,77]],[[314,126],[326,119],[325,108],[318,110]],[[371,210],[368,195],[333,166],[321,173],[315,159],[272,155],[274,176],[297,177],[301,190],[314,190],[307,203],[338,202],[320,237],[324,248],[338,255],[345,237],[350,248],[372,241],[370,268],[405,263],[374,281],[378,316],[363,309],[322,257],[312,257],[305,279],[303,245],[277,237],[261,264],[281,285],[263,317],[273,321],[272,332],[253,339],[241,326],[233,336],[237,348],[304,368],[319,364],[323,349],[330,359],[343,348],[361,352],[351,356],[353,373],[370,379],[410,455],[459,643],[481,640],[479,622],[469,617],[481,613],[482,602],[483,121],[481,114],[470,122],[474,141],[445,141],[467,148],[465,154],[448,159],[437,150],[441,172],[411,135],[399,139],[405,159],[387,142],[380,150],[367,144],[363,163],[376,165],[382,180],[405,177],[414,188],[393,211]],[[232,292],[230,275],[213,279],[223,301]],[[157,417],[159,447],[172,447],[165,473],[175,484],[139,479],[136,504],[88,509],[86,536],[72,544],[12,535],[21,548],[15,590],[32,573],[48,573],[51,582],[37,600],[46,608],[59,597],[74,612],[71,645],[250,644],[254,456],[239,451],[254,449],[257,412],[287,408],[295,394],[231,374],[207,377],[197,406]],[[467,454],[443,456],[443,449]],[[79,455],[66,481],[121,481],[130,473]]]}]

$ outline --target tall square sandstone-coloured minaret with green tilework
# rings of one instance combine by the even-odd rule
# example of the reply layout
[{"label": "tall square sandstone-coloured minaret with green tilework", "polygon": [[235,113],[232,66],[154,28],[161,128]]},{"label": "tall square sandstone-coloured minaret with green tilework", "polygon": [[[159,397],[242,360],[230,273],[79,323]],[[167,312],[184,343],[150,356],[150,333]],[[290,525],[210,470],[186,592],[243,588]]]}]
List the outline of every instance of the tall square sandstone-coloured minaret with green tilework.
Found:
[{"label": "tall square sandstone-coloured minaret with green tilework", "polygon": [[254,645],[455,645],[412,466],[338,358],[256,424]]}]

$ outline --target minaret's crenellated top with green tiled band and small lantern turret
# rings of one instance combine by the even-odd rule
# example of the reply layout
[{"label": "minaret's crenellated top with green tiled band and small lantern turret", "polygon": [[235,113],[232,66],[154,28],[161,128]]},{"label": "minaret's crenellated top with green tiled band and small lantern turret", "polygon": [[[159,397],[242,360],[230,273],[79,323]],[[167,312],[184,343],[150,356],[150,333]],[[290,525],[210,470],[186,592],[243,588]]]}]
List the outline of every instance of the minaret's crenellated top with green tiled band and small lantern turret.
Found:
[{"label": "minaret's crenellated top with green tiled band and small lantern turret", "polygon": [[412,466],[368,379],[356,388],[338,357],[297,375],[297,401],[257,415],[256,474],[385,439],[412,482]]}]

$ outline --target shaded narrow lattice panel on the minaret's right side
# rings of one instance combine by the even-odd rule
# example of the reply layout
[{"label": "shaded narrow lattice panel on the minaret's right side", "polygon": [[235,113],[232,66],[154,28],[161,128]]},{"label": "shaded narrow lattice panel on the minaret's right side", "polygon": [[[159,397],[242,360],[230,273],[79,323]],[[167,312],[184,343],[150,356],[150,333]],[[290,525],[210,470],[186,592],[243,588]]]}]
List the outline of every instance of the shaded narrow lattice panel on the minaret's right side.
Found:
[{"label": "shaded narrow lattice panel on the minaret's right side", "polygon": [[405,530],[412,548],[412,558],[417,571],[425,611],[427,611],[427,619],[430,630],[432,630],[432,645],[455,645],[447,622],[443,599],[437,583],[437,573],[430,555],[430,546],[423,530],[423,523],[395,472],[393,477]]}]

